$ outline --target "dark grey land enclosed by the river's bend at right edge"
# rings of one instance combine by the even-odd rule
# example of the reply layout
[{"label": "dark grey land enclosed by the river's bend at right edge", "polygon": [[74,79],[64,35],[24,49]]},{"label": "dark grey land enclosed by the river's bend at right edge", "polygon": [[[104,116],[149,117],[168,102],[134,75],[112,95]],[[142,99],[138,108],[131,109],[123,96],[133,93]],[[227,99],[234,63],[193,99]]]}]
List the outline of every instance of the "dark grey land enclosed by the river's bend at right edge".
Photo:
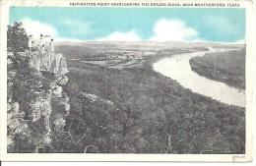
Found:
[{"label": "dark grey land enclosed by the river's bend at right edge", "polygon": [[245,49],[206,54],[189,63],[203,77],[245,89]]}]

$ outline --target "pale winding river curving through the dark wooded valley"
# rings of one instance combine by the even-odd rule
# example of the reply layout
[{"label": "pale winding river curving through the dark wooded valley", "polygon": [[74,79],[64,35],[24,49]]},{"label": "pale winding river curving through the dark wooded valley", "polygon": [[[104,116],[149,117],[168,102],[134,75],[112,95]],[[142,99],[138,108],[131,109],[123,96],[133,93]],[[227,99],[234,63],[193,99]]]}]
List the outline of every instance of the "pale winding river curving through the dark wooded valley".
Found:
[{"label": "pale winding river curving through the dark wooded valley", "polygon": [[[220,83],[199,76],[191,70],[189,60],[193,57],[202,57],[206,53],[225,52],[228,49],[212,49],[209,51],[178,54],[172,57],[160,59],[153,68],[161,75],[177,81],[185,88],[193,92],[212,97],[220,102],[245,107],[245,91],[231,87],[225,83]],[[214,55],[213,55],[214,56]]]}]

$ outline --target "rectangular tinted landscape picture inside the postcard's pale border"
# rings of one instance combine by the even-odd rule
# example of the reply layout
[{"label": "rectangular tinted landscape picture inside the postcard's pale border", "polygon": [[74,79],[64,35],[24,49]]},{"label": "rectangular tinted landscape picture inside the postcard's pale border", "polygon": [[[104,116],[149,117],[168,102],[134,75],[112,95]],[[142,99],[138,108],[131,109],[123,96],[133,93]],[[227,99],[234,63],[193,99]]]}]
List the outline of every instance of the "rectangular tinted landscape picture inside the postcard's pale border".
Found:
[{"label": "rectangular tinted landscape picture inside the postcard's pale border", "polygon": [[7,154],[245,156],[246,8],[122,5],[8,7]]}]

